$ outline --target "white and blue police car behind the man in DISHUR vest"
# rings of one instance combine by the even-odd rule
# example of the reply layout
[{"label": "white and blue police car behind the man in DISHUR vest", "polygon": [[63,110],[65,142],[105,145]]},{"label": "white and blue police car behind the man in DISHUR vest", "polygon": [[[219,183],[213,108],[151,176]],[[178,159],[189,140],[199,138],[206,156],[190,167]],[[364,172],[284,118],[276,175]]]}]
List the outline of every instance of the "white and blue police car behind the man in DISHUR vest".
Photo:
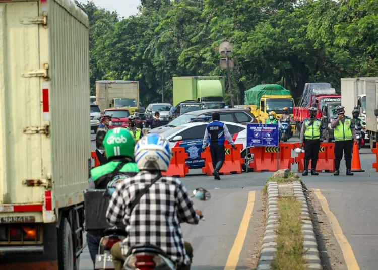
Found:
[{"label": "white and blue police car behind the man in DISHUR vest", "polygon": [[[246,160],[246,126],[232,122],[224,123],[227,125],[235,144],[243,145],[241,157]],[[207,124],[208,122],[187,123],[161,132],[161,134],[167,138],[172,148],[185,148],[185,152],[189,154],[189,157],[186,159],[185,163],[190,169],[200,169],[204,167],[205,162],[201,158],[201,153]],[[227,140],[226,144],[228,144]],[[242,164],[242,169],[246,171],[245,163]]]}]

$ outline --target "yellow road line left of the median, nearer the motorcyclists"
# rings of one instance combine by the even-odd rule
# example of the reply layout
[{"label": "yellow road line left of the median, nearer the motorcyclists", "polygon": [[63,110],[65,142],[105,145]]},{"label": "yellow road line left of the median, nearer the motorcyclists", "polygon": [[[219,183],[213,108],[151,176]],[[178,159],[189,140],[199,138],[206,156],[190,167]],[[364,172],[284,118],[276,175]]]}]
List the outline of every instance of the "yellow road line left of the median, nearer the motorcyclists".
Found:
[{"label": "yellow road line left of the median, nearer the motorcyclists", "polygon": [[228,254],[227,262],[224,270],[235,270],[239,261],[241,249],[243,248],[244,240],[247,235],[248,225],[255,205],[256,191],[249,191],[247,206],[244,211],[243,219],[241,220],[239,231],[237,232],[234,244]]}]

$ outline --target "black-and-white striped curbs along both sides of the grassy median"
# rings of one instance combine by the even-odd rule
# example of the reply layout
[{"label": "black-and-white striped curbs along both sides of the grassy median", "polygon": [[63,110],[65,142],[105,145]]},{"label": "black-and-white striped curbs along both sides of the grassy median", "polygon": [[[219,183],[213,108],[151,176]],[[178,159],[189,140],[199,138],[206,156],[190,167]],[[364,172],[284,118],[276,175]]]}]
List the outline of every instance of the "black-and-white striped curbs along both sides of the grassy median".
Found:
[{"label": "black-and-white striped curbs along both sides of the grassy median", "polygon": [[[293,181],[292,187],[294,196],[301,207],[302,233],[303,233],[303,258],[306,261],[306,270],[322,270],[318,244],[315,237],[315,231],[312,225],[311,215],[309,213],[308,203],[303,192],[302,183]],[[260,251],[258,267],[256,270],[271,270],[272,261],[277,251],[276,228],[278,227],[278,183],[269,182],[267,188],[267,209],[266,209],[266,227],[264,231],[263,245]]]}]

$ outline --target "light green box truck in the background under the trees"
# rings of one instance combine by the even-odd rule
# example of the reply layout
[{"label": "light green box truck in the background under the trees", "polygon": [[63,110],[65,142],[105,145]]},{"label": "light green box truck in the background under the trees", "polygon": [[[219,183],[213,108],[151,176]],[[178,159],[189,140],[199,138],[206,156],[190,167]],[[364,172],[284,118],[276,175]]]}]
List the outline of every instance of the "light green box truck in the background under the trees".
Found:
[{"label": "light green box truck in the background under the trees", "polygon": [[221,76],[173,77],[173,105],[185,100],[224,101],[224,78]]}]

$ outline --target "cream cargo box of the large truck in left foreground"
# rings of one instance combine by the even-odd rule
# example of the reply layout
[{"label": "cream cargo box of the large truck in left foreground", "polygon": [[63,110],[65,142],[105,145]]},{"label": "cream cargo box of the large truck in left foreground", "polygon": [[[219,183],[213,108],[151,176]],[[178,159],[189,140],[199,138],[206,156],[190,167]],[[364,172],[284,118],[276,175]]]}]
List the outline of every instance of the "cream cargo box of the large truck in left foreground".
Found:
[{"label": "cream cargo box of the large truck in left foreground", "polygon": [[68,0],[0,2],[0,219],[54,222],[84,200],[88,26]]}]

